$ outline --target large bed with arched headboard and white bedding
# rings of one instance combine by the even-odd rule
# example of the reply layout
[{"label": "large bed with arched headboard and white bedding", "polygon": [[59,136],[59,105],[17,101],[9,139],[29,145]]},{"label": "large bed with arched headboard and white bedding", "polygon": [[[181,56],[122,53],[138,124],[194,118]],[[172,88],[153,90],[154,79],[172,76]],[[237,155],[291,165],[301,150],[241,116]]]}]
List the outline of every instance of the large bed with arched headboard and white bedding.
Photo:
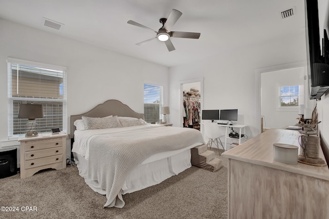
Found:
[{"label": "large bed with arched headboard and white bedding", "polygon": [[124,206],[122,195],[161,183],[191,167],[191,148],[204,144],[195,129],[152,125],[115,99],[70,116],[72,154],[79,174],[104,207]]}]

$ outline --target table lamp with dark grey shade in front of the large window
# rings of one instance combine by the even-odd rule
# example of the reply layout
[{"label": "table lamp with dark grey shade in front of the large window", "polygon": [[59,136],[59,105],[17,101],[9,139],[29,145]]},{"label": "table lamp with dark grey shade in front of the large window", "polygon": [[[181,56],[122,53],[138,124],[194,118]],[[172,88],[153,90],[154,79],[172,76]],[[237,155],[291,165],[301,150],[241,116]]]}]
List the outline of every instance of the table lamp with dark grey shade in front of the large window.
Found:
[{"label": "table lamp with dark grey shade in front of the large window", "polygon": [[38,136],[36,130],[38,124],[35,123],[35,118],[43,118],[43,107],[41,104],[21,104],[19,111],[19,118],[27,118],[28,123],[25,125],[26,137]]}]

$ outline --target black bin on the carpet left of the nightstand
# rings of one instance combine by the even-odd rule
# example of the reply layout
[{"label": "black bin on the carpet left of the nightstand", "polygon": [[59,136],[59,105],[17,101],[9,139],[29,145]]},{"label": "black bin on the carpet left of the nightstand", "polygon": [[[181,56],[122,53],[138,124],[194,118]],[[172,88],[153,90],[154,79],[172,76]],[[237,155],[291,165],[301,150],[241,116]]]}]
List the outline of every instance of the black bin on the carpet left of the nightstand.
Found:
[{"label": "black bin on the carpet left of the nightstand", "polygon": [[17,174],[17,148],[0,149],[0,178]]}]

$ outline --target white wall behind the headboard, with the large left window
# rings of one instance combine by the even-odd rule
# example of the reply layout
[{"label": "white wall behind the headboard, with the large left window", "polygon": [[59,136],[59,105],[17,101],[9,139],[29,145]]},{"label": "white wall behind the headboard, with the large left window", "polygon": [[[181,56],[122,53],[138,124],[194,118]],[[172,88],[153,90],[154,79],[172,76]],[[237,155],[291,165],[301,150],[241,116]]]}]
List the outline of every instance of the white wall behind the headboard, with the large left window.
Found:
[{"label": "white wall behind the headboard, with the large left window", "polygon": [[168,103],[167,67],[4,19],[0,30],[0,147],[18,145],[7,142],[7,57],[67,67],[67,122],[107,99],[143,113],[143,83],[162,85]]}]

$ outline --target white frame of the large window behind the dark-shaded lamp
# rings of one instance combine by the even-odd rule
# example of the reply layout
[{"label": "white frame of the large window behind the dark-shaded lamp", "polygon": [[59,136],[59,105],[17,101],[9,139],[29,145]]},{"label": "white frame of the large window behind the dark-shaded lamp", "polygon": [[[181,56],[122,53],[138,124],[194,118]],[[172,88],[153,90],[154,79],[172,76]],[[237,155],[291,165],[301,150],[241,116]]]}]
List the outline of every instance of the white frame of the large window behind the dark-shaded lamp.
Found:
[{"label": "white frame of the large window behind the dark-shaded lamp", "polygon": [[[12,64],[18,64],[18,65],[27,65],[27,66],[33,66],[38,68],[45,68],[45,69],[52,69],[52,70],[59,70],[63,71],[63,98],[33,98],[33,97],[13,97],[12,95],[12,72],[11,72],[11,65]],[[46,104],[46,103],[56,103],[60,102],[63,104],[63,114],[62,114],[62,120],[63,120],[63,132],[66,132],[66,98],[67,98],[67,82],[66,82],[66,67],[62,66],[56,66],[56,65],[48,65],[43,63],[37,63],[37,62],[31,62],[26,61],[22,59],[17,58],[7,58],[7,71],[8,71],[8,140],[16,139],[20,136],[24,136],[24,134],[13,134],[13,102],[14,101],[22,101],[22,103],[40,103],[40,104]],[[51,128],[49,127],[49,132],[51,132]]]}]

